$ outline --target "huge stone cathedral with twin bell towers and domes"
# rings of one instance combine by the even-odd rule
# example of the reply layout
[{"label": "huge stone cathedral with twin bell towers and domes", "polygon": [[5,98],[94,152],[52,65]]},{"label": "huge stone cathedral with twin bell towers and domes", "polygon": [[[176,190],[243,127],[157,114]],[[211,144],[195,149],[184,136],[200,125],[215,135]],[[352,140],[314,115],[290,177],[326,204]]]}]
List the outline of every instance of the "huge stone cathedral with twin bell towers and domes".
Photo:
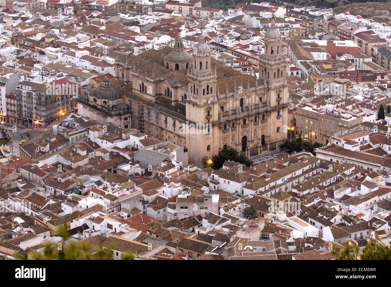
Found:
[{"label": "huge stone cathedral with twin bell towers and domes", "polygon": [[106,122],[115,115],[117,125],[184,146],[190,163],[196,165],[222,148],[232,147],[248,156],[275,150],[287,138],[288,124],[282,45],[273,21],[265,32],[257,79],[216,61],[203,35],[192,55],[178,35],[173,47],[117,57],[115,76],[132,83],[132,93],[124,94],[118,103],[113,92],[115,105],[110,105],[106,97],[96,95],[101,91],[94,92],[95,88],[81,98],[79,111]]}]

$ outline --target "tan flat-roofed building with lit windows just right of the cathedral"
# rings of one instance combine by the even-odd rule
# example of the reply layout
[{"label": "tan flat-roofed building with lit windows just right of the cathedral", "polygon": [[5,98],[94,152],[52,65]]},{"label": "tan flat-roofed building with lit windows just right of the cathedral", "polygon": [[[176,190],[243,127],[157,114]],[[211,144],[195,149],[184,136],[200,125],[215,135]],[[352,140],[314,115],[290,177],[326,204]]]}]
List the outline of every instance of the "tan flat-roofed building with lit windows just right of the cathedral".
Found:
[{"label": "tan flat-roofed building with lit windows just right of the cathedral", "polygon": [[349,114],[335,105],[325,105],[319,108],[306,104],[296,110],[295,130],[304,140],[323,145],[331,144],[334,133],[348,130],[352,126],[362,123],[362,117]]}]

